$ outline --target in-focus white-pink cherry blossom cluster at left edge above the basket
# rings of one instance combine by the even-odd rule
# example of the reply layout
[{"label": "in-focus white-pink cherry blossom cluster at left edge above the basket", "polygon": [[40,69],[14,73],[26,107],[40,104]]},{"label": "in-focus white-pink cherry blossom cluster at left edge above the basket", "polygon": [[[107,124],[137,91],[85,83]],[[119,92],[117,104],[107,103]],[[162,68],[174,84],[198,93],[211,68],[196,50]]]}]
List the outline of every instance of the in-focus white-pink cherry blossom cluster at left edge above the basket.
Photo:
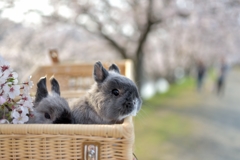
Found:
[{"label": "in-focus white-pink cherry blossom cluster at left edge above the basket", "polygon": [[[33,99],[30,96],[30,89],[33,82],[31,76],[27,82],[20,85],[18,85],[17,78],[18,74],[13,72],[9,64],[0,57],[0,110],[4,111],[3,117],[0,117],[0,123],[23,124],[32,115]],[[16,97],[19,100],[16,101]],[[11,116],[5,115],[6,110],[11,113]]]}]

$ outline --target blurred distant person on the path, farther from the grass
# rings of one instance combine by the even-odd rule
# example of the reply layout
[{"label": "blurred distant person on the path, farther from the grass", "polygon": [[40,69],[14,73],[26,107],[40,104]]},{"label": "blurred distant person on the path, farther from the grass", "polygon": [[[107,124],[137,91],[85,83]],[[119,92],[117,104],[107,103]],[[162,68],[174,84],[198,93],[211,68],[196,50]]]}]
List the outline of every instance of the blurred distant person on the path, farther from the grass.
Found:
[{"label": "blurred distant person on the path, farther from the grass", "polygon": [[228,65],[224,58],[221,59],[221,64],[219,66],[219,71],[216,79],[216,87],[217,87],[217,94],[223,94],[225,81],[226,81],[226,74],[228,70]]}]

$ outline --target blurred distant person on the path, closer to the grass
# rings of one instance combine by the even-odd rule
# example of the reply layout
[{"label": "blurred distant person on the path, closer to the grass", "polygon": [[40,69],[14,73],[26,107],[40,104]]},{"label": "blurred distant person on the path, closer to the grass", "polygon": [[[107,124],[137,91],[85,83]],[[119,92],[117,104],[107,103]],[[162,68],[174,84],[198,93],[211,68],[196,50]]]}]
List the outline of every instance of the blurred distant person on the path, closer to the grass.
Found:
[{"label": "blurred distant person on the path, closer to the grass", "polygon": [[197,63],[197,90],[200,92],[203,86],[203,79],[205,77],[206,67],[201,60]]}]

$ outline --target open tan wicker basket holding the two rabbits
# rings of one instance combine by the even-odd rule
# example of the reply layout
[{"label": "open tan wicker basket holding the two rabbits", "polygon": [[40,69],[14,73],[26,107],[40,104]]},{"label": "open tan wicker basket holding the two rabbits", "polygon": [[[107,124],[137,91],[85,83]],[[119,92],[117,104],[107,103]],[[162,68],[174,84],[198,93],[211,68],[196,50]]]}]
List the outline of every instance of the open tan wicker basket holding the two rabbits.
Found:
[{"label": "open tan wicker basket holding the two rabbits", "polygon": [[[106,67],[110,65],[103,64]],[[116,64],[122,74],[132,78],[131,61]],[[92,69],[93,63],[42,66],[33,71],[32,79],[36,84],[39,77],[54,75],[60,83],[61,95],[76,98],[85,93],[84,89],[79,89],[76,79],[92,77]],[[75,85],[72,85],[73,79]],[[132,117],[126,118],[123,124],[115,125],[0,125],[0,160],[132,160],[133,144]]]}]

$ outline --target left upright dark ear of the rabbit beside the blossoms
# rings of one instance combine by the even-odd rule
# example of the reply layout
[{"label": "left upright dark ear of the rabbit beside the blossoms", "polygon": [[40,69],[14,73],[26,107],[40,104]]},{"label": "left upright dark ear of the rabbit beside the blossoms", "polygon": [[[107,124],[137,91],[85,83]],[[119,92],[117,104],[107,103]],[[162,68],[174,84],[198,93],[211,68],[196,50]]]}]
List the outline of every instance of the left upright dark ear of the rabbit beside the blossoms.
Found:
[{"label": "left upright dark ear of the rabbit beside the blossoms", "polygon": [[40,78],[37,83],[37,92],[35,102],[40,102],[43,98],[48,96],[46,77]]}]

